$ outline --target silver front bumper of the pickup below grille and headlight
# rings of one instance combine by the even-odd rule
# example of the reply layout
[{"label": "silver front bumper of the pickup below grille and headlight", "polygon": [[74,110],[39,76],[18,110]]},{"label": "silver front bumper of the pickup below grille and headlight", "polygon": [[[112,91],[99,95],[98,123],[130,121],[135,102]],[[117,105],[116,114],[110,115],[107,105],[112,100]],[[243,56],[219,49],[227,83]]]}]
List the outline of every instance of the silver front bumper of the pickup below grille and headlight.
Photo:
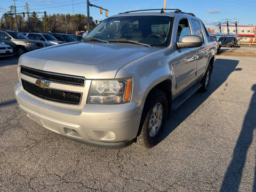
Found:
[{"label": "silver front bumper of the pickup below grille and headlight", "polygon": [[28,117],[71,140],[104,148],[122,148],[137,136],[141,117],[138,103],[85,104],[80,110],[35,97],[23,90],[19,82],[14,92]]}]

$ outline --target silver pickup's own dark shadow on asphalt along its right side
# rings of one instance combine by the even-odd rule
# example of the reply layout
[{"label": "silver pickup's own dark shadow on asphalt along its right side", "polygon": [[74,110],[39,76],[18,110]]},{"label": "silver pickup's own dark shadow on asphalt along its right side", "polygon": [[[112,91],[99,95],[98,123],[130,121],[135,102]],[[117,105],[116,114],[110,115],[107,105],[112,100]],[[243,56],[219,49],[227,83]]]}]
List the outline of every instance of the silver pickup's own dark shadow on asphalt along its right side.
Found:
[{"label": "silver pickup's own dark shadow on asphalt along its right side", "polygon": [[170,119],[166,122],[161,141],[185,121],[189,115],[191,115],[215,90],[217,90],[233,71],[242,70],[241,68],[236,68],[238,62],[238,60],[230,59],[217,59],[215,61],[209,90],[205,93],[195,93],[178,109],[172,111]]}]

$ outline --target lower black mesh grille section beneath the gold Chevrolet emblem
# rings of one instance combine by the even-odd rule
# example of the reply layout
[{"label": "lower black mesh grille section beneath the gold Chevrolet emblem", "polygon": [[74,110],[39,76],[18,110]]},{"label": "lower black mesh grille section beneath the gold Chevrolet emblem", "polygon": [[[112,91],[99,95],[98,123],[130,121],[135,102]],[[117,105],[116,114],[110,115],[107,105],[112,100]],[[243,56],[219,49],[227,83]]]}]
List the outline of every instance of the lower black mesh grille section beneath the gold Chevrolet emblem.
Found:
[{"label": "lower black mesh grille section beneath the gold Chevrolet emblem", "polygon": [[82,93],[45,89],[23,79],[21,79],[21,83],[24,90],[42,99],[74,105],[79,105],[82,99]]}]

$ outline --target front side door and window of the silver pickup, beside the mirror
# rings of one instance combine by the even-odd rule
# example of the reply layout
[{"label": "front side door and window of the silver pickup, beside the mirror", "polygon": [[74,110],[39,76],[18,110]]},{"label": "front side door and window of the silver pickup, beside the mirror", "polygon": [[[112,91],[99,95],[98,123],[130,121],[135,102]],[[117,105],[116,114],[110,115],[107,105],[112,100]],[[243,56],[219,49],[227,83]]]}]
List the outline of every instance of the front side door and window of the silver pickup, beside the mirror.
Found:
[{"label": "front side door and window of the silver pickup, beside the mirror", "polygon": [[[177,34],[176,42],[181,42],[182,37],[191,35],[191,28],[187,18],[180,19],[175,33]],[[197,65],[196,50],[196,48],[187,48],[174,52],[175,61],[173,62],[173,67],[177,93],[185,91],[195,79]]]}]

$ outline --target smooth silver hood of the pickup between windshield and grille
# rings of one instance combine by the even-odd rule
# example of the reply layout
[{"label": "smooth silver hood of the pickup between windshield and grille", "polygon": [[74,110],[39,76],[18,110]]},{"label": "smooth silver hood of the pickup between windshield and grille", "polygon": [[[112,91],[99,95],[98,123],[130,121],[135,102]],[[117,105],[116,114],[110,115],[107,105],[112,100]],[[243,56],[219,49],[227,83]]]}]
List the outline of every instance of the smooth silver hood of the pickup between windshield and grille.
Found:
[{"label": "smooth silver hood of the pickup between windshield and grille", "polygon": [[23,54],[19,65],[87,79],[114,78],[119,68],[159,49],[120,43],[73,42]]}]

